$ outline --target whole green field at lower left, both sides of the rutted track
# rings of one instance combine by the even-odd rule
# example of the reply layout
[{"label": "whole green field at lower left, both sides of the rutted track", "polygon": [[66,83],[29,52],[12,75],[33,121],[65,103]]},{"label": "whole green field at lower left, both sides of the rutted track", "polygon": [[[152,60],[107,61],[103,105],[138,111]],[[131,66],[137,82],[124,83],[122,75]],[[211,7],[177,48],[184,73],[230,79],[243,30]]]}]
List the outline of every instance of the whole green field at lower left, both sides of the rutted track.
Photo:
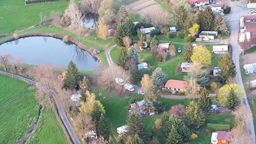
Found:
[{"label": "whole green field at lower left, both sides of the rutted track", "polygon": [[[17,143],[38,116],[35,90],[29,84],[0,75],[0,143]],[[30,143],[67,143],[52,109],[44,109]]]}]

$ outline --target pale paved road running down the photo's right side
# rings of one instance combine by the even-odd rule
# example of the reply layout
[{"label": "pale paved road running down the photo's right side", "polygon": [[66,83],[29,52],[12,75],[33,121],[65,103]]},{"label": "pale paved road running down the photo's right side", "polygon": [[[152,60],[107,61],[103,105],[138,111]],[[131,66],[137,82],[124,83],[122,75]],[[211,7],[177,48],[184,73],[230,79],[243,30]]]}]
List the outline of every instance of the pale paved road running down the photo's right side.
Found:
[{"label": "pale paved road running down the photo's right side", "polygon": [[[246,2],[245,0],[241,0],[238,2],[231,3],[232,12],[228,16],[229,24],[230,24],[230,45],[232,46],[232,59],[234,63],[236,64],[236,83],[239,84],[241,90],[244,93],[244,98],[246,99],[246,92],[244,90],[243,80],[241,76],[241,70],[239,65],[239,54],[241,53],[241,50],[239,49],[239,44],[237,42],[238,40],[238,33],[239,33],[239,20],[242,15],[246,15],[248,13],[248,10],[246,10]],[[252,112],[250,109],[250,106],[248,104],[248,100],[246,99],[245,102],[241,100],[241,104],[246,106],[247,111],[250,116],[248,116],[246,120],[246,127],[247,131],[251,134],[251,138],[253,143],[255,143],[255,131],[254,131],[254,125],[253,125],[253,118],[252,118]]]}]

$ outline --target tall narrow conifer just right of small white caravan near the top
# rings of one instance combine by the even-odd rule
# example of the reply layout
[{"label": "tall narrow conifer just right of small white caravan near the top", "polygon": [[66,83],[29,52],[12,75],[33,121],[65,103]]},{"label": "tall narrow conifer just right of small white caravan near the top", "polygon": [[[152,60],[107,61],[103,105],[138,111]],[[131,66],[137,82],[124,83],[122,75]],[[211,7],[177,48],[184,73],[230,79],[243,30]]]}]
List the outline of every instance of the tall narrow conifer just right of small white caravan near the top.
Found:
[{"label": "tall narrow conifer just right of small white caravan near the top", "polygon": [[178,11],[177,11],[177,19],[176,19],[176,24],[177,28],[183,29],[184,26],[186,25],[186,19],[188,17],[188,12],[184,8],[184,6],[180,6]]}]

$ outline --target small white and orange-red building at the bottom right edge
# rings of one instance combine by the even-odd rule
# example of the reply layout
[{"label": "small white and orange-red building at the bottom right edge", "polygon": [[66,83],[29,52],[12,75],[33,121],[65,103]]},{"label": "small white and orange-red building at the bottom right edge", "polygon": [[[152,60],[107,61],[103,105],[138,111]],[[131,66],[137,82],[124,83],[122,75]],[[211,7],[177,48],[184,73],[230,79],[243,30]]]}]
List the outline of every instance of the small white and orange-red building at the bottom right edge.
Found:
[{"label": "small white and orange-red building at the bottom right edge", "polygon": [[226,131],[212,132],[212,144],[228,144],[230,141],[230,134]]}]

